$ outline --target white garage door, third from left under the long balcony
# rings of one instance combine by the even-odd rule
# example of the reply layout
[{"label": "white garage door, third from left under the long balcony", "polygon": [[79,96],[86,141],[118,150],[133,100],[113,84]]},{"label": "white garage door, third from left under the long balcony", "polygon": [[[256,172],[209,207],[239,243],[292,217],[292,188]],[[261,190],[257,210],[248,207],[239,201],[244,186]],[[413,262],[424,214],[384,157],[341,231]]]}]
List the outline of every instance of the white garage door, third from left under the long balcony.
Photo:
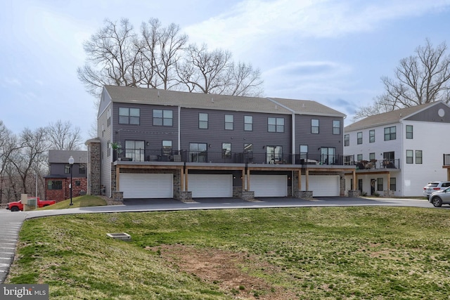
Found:
[{"label": "white garage door, third from left under the long balcony", "polygon": [[250,190],[255,192],[255,197],[286,197],[288,176],[250,175]]}]

